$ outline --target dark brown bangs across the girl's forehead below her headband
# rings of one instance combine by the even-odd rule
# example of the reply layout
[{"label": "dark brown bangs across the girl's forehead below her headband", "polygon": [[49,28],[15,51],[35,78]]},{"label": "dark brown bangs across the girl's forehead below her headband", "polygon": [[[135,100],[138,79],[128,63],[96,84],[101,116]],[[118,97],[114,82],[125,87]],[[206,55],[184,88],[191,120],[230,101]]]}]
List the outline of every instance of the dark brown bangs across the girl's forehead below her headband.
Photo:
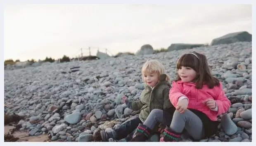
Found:
[{"label": "dark brown bangs across the girl's forehead below her headband", "polygon": [[192,54],[185,54],[179,58],[177,63],[177,69],[182,66],[191,67],[193,70],[198,72],[197,66],[199,66],[199,60],[196,56]]}]

